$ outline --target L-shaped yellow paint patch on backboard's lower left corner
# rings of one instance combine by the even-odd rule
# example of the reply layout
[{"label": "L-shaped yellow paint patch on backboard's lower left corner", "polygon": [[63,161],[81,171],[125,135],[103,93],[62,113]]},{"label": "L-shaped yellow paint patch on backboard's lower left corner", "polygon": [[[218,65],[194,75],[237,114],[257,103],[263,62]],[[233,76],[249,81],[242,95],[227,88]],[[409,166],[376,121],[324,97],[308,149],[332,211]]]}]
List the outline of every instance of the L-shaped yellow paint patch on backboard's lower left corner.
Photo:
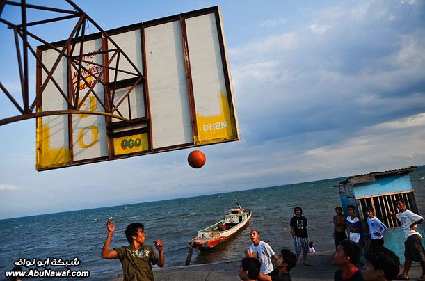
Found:
[{"label": "L-shaped yellow paint patch on backboard's lower left corner", "polygon": [[38,118],[40,126],[37,126],[37,159],[35,166],[37,170],[47,168],[58,168],[70,164],[70,150],[66,147],[52,149],[50,147],[49,125],[42,125],[42,118]]}]

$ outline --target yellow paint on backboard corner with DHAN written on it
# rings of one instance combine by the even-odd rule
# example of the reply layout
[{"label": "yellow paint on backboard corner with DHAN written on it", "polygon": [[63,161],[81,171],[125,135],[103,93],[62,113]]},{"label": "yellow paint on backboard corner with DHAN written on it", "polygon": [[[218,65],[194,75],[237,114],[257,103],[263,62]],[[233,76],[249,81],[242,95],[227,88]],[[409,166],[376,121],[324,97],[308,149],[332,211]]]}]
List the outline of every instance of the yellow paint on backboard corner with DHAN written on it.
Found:
[{"label": "yellow paint on backboard corner with DHAN written on it", "polygon": [[236,138],[230,118],[227,95],[220,93],[221,113],[214,116],[202,116],[196,114],[198,137],[195,137],[195,145],[217,143],[218,140],[233,140]]}]

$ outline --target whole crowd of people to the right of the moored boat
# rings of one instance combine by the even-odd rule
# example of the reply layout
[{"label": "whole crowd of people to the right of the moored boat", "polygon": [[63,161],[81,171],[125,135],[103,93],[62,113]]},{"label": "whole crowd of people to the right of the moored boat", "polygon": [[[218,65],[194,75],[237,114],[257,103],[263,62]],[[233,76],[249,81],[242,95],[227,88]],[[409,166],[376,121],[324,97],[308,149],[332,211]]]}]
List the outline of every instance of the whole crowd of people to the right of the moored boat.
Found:
[{"label": "whole crowd of people to the right of the moored boat", "polygon": [[[349,205],[347,207],[349,216],[344,216],[342,208],[336,207],[336,215],[333,218],[336,250],[332,257],[332,264],[339,268],[334,274],[335,281],[409,280],[408,271],[412,261],[420,262],[422,276],[418,280],[425,281],[425,250],[421,243],[422,236],[417,232],[417,224],[422,223],[424,218],[408,210],[406,202],[402,199],[396,200],[395,204],[399,214],[390,212],[388,216],[399,219],[403,227],[405,238],[403,273],[399,274],[399,257],[384,247],[387,226],[376,218],[374,209],[364,208],[369,227],[369,239],[364,239],[362,222],[355,214],[355,207]],[[308,266],[307,218],[303,216],[300,207],[294,208],[294,214],[289,225],[294,238],[295,254],[288,249],[282,249],[277,257],[268,243],[259,240],[259,231],[251,230],[252,245],[246,249],[246,257],[239,267],[241,280],[291,280],[289,271],[294,266],[298,266],[300,255],[303,255],[303,266]],[[368,241],[367,251],[364,250],[366,241]],[[362,256],[365,262],[363,262],[363,270],[360,271],[357,264]],[[272,259],[275,260],[276,269],[273,269]]]}]

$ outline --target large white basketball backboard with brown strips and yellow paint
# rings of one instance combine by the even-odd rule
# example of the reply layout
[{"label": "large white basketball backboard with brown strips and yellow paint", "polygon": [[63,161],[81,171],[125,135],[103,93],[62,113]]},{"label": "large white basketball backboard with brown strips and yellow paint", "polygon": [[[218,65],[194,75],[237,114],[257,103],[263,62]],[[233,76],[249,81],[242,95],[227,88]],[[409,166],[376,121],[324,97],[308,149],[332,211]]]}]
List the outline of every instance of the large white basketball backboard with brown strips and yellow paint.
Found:
[{"label": "large white basketball backboard with brown strips and yellow paint", "polygon": [[218,7],[106,33],[38,47],[38,111],[85,113],[37,118],[37,170],[239,140]]}]

